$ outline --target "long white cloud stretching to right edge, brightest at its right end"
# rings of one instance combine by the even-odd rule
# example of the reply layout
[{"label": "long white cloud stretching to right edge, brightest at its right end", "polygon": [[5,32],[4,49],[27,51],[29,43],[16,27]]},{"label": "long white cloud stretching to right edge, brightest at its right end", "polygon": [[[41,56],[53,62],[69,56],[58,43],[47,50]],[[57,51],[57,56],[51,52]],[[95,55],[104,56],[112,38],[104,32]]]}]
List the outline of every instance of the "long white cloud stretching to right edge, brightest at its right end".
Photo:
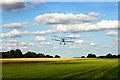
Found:
[{"label": "long white cloud stretching to right edge, brightest at its right end", "polygon": [[62,32],[83,32],[83,31],[97,31],[104,29],[116,29],[118,28],[117,20],[102,20],[95,24],[91,23],[82,23],[82,24],[58,24],[52,26],[57,31]]}]

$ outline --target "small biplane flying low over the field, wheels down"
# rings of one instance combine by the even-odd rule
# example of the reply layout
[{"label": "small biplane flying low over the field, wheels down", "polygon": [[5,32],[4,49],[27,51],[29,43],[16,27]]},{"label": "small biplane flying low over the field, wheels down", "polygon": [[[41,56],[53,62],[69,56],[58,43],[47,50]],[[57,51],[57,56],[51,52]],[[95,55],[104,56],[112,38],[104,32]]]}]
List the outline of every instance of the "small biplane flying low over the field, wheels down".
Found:
[{"label": "small biplane flying low over the field, wheels down", "polygon": [[62,36],[53,36],[55,37],[55,41],[59,41],[60,44],[62,44],[62,42],[64,43],[64,45],[66,45],[66,42],[70,42],[70,43],[74,43],[74,41],[72,41],[72,39],[75,39],[74,37],[62,37]]}]

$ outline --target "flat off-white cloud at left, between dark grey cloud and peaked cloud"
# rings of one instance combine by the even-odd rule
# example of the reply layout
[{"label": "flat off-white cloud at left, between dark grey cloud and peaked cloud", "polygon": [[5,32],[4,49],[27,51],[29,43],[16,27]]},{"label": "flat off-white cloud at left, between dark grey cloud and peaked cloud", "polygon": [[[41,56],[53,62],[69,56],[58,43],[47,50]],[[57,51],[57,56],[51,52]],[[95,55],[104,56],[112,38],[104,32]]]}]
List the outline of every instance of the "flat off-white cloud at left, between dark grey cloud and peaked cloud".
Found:
[{"label": "flat off-white cloud at left, between dark grey cloud and peaked cloud", "polygon": [[5,27],[5,28],[27,28],[27,24],[26,22],[24,23],[10,23],[10,24],[4,24],[2,25],[2,27]]}]

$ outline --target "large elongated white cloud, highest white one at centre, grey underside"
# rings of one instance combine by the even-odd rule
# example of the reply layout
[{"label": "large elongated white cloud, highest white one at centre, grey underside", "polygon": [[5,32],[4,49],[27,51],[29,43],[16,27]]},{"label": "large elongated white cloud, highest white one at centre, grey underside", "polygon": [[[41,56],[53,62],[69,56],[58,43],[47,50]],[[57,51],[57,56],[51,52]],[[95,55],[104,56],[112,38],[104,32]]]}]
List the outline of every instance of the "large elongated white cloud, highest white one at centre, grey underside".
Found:
[{"label": "large elongated white cloud, highest white one at centre, grey underside", "polygon": [[97,20],[96,17],[85,14],[63,14],[63,13],[50,13],[39,15],[35,18],[35,21],[43,24],[70,24],[91,22]]}]

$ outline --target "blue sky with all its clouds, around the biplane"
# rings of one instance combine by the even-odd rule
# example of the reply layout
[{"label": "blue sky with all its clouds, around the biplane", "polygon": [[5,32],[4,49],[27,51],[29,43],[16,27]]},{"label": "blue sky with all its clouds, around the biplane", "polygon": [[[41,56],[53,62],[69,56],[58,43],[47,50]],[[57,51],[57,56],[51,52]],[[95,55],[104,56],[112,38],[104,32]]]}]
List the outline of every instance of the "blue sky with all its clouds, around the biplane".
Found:
[{"label": "blue sky with all its clouds, around the biplane", "polygon": [[[1,9],[0,51],[61,57],[118,54],[117,2],[4,2]],[[74,43],[59,44],[53,35],[74,37]]]}]

